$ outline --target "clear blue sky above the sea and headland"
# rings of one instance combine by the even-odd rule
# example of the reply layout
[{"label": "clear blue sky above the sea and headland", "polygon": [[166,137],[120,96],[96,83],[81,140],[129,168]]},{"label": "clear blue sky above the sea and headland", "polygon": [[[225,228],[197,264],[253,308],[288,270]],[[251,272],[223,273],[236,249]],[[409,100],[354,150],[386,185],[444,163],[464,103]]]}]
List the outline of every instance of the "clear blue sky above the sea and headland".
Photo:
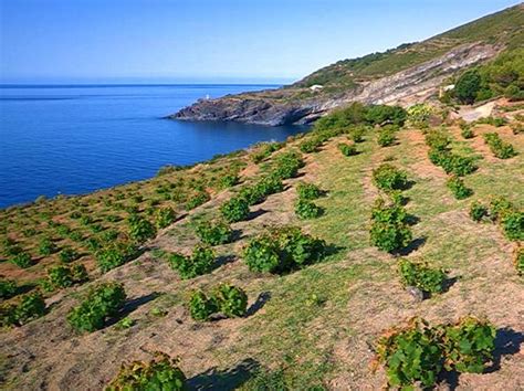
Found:
[{"label": "clear blue sky above the sea and headland", "polygon": [[517,0],[0,0],[0,83],[286,83]]}]

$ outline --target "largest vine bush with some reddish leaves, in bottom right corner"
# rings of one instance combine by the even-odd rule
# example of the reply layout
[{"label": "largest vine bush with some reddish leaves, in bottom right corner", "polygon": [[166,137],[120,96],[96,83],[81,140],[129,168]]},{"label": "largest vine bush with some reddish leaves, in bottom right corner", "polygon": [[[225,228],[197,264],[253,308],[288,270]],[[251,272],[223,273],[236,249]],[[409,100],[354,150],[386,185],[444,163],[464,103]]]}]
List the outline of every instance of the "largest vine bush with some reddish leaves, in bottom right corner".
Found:
[{"label": "largest vine bush with some reddish leaves, in bottom right corner", "polygon": [[481,373],[493,357],[494,340],[495,328],[475,317],[434,327],[413,318],[378,339],[376,363],[386,368],[389,387],[432,388],[444,369]]}]

